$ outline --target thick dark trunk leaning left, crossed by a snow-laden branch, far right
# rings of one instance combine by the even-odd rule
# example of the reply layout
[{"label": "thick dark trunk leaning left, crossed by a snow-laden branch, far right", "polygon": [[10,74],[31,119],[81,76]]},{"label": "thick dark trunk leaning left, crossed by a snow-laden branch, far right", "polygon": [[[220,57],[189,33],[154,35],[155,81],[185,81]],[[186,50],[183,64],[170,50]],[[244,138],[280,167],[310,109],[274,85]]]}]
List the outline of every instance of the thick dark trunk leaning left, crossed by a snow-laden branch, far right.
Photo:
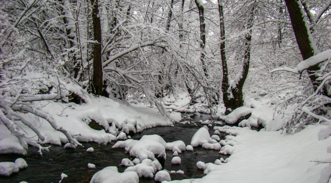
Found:
[{"label": "thick dark trunk leaning left, crossed by a snow-laden branch, far right", "polygon": [[[304,14],[302,9],[302,4],[299,0],[285,0],[287,9],[289,11],[292,28],[296,36],[298,47],[303,60],[306,60],[316,53],[313,46],[313,40],[311,40],[310,30],[306,27],[306,21],[304,20]],[[313,84],[314,90],[318,88],[321,84],[320,81],[317,81],[318,78],[315,71],[319,70],[319,65],[313,65],[307,69],[309,74],[309,79]]]}]

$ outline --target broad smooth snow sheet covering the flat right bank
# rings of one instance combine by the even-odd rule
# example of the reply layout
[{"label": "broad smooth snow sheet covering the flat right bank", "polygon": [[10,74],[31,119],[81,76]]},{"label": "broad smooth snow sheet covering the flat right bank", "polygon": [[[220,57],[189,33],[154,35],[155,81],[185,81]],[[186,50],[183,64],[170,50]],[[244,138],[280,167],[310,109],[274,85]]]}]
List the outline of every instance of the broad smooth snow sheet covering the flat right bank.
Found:
[{"label": "broad smooth snow sheet covering the flat right bank", "polygon": [[[197,167],[205,170],[206,176],[189,182],[315,183],[320,179],[322,170],[330,173],[326,168],[328,163],[313,162],[330,159],[326,147],[330,146],[331,138],[317,138],[318,132],[325,125],[308,125],[293,135],[280,134],[279,131],[257,132],[235,126],[225,128],[237,134],[229,138],[236,142],[233,147],[228,145],[233,148],[232,155],[221,165],[198,162]],[[186,182],[188,180],[174,181]]]}]

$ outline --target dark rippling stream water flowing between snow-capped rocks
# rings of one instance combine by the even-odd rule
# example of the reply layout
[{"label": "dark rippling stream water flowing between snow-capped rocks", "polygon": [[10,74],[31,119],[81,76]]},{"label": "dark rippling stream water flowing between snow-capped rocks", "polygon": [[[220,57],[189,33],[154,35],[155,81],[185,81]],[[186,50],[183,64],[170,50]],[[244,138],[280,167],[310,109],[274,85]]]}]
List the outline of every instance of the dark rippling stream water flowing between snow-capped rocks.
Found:
[{"label": "dark rippling stream water flowing between snow-capped rocks", "polygon": [[[195,117],[194,120],[205,120],[206,116]],[[140,139],[143,135],[158,134],[162,136],[166,142],[182,140],[186,145],[190,144],[193,134],[201,125],[183,125],[175,124],[171,126],[159,126],[150,129],[145,129],[143,132],[135,134],[132,139]],[[209,130],[213,134],[212,127]],[[224,135],[221,135],[221,139]],[[68,177],[62,183],[89,183],[92,176],[106,166],[117,166],[119,172],[123,172],[125,167],[119,165],[123,158],[131,158],[124,149],[112,149],[115,142],[108,145],[99,145],[95,143],[84,143],[84,148],[77,147],[75,150],[63,149],[59,146],[52,146],[50,152],[44,152],[40,156],[37,149],[29,147],[28,155],[22,156],[17,154],[2,154],[1,161],[13,162],[18,157],[23,157],[28,168],[20,170],[19,173],[13,174],[10,177],[0,176],[0,183],[19,183],[27,181],[28,183],[58,183],[61,179],[61,173],[65,173]],[[89,147],[94,148],[94,152],[86,152]],[[202,148],[194,148],[194,152],[185,151],[179,154],[181,158],[180,165],[171,165],[172,152],[166,151],[165,169],[183,170],[184,174],[170,174],[171,180],[181,180],[188,178],[200,178],[203,176],[203,171],[198,170],[196,163],[198,161],[214,162],[215,159],[224,156],[214,150],[204,150]],[[96,169],[88,169],[87,164],[93,163]],[[154,183],[154,179],[140,179],[140,183]]]}]

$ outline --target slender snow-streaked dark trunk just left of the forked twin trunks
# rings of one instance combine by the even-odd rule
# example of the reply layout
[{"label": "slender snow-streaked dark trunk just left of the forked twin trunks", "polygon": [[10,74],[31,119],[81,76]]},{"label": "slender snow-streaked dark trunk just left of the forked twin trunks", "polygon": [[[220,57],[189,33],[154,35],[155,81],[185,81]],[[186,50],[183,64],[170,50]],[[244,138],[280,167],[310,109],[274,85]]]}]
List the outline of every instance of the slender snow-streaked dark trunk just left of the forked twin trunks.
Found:
[{"label": "slender snow-streaked dark trunk just left of the forked twin trunks", "polygon": [[198,10],[199,10],[199,21],[200,21],[200,49],[201,49],[201,56],[200,56],[200,60],[202,63],[202,69],[203,69],[203,73],[204,76],[206,78],[208,78],[208,72],[207,72],[207,66],[205,63],[205,57],[206,57],[206,53],[205,53],[205,46],[206,46],[206,24],[204,22],[204,7],[203,4],[199,4],[199,0],[195,0],[197,6],[198,6]]}]

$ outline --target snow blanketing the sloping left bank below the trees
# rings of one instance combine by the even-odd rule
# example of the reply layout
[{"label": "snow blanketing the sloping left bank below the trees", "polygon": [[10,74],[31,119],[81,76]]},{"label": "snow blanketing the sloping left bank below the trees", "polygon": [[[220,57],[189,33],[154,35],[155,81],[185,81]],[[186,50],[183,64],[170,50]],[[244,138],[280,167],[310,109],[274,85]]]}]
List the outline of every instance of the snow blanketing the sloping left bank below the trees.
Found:
[{"label": "snow blanketing the sloping left bank below the trees", "polygon": [[[69,85],[69,84],[68,84]],[[73,87],[75,88],[75,87]],[[86,97],[86,96],[85,96]],[[158,125],[171,125],[172,122],[158,113],[156,109],[145,107],[132,107],[119,103],[106,97],[86,97],[87,103],[60,103],[56,101],[35,101],[35,108],[42,108],[54,118],[57,126],[66,129],[69,134],[80,142],[96,142],[106,144],[116,140],[116,136],[122,139],[123,133],[119,132],[140,132],[143,129]],[[28,121],[35,121],[32,114],[23,114]],[[92,129],[88,123],[94,120],[104,129]],[[25,130],[31,140],[38,141],[35,132],[19,122],[18,125]],[[45,140],[41,144],[62,145],[68,143],[66,136],[55,130],[48,122],[39,119],[33,125],[37,127]],[[72,144],[66,144],[66,148],[74,148]],[[25,155],[26,149],[20,144],[17,137],[0,123],[0,153],[19,153]]]}]

